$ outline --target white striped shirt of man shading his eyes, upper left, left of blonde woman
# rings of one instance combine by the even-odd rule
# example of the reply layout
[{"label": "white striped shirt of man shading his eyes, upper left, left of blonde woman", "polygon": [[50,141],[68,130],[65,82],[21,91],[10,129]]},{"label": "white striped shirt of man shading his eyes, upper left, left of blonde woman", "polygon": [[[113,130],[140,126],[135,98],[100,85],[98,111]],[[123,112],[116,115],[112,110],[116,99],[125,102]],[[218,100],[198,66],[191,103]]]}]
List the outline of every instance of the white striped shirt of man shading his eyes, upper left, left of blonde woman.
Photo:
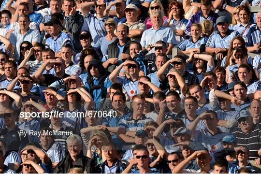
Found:
[{"label": "white striped shirt of man shading his eyes, upper left, left of blonde woman", "polygon": [[104,22],[107,17],[105,16],[99,19],[97,16],[89,14],[84,19],[87,23],[87,28],[85,30],[88,30],[91,33],[93,39],[92,45],[94,45],[101,37],[104,37],[107,34],[107,31],[104,28]]}]

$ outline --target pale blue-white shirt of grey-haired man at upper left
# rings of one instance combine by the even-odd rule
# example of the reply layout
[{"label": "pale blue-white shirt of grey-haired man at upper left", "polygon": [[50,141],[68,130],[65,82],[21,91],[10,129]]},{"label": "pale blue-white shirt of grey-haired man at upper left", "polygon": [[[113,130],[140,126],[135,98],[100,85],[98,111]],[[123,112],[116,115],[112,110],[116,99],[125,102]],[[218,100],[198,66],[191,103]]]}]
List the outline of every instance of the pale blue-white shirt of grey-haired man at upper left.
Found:
[{"label": "pale blue-white shirt of grey-haired man at upper left", "polygon": [[20,45],[23,41],[28,41],[30,43],[37,42],[40,43],[40,33],[38,30],[29,29],[24,35],[21,34],[20,30],[13,31],[9,38],[10,42],[15,45],[14,58],[19,59]]}]

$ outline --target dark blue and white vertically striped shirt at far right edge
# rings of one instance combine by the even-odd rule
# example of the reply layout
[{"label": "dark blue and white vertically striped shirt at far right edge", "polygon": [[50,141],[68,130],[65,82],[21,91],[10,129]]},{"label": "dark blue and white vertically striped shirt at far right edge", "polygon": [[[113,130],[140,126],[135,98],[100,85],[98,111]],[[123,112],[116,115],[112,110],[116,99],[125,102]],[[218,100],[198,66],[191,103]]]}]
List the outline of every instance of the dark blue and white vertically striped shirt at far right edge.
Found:
[{"label": "dark blue and white vertically striped shirt at far right edge", "polygon": [[261,39],[261,31],[258,26],[249,29],[246,35],[246,47],[254,46],[255,43],[259,43]]}]

